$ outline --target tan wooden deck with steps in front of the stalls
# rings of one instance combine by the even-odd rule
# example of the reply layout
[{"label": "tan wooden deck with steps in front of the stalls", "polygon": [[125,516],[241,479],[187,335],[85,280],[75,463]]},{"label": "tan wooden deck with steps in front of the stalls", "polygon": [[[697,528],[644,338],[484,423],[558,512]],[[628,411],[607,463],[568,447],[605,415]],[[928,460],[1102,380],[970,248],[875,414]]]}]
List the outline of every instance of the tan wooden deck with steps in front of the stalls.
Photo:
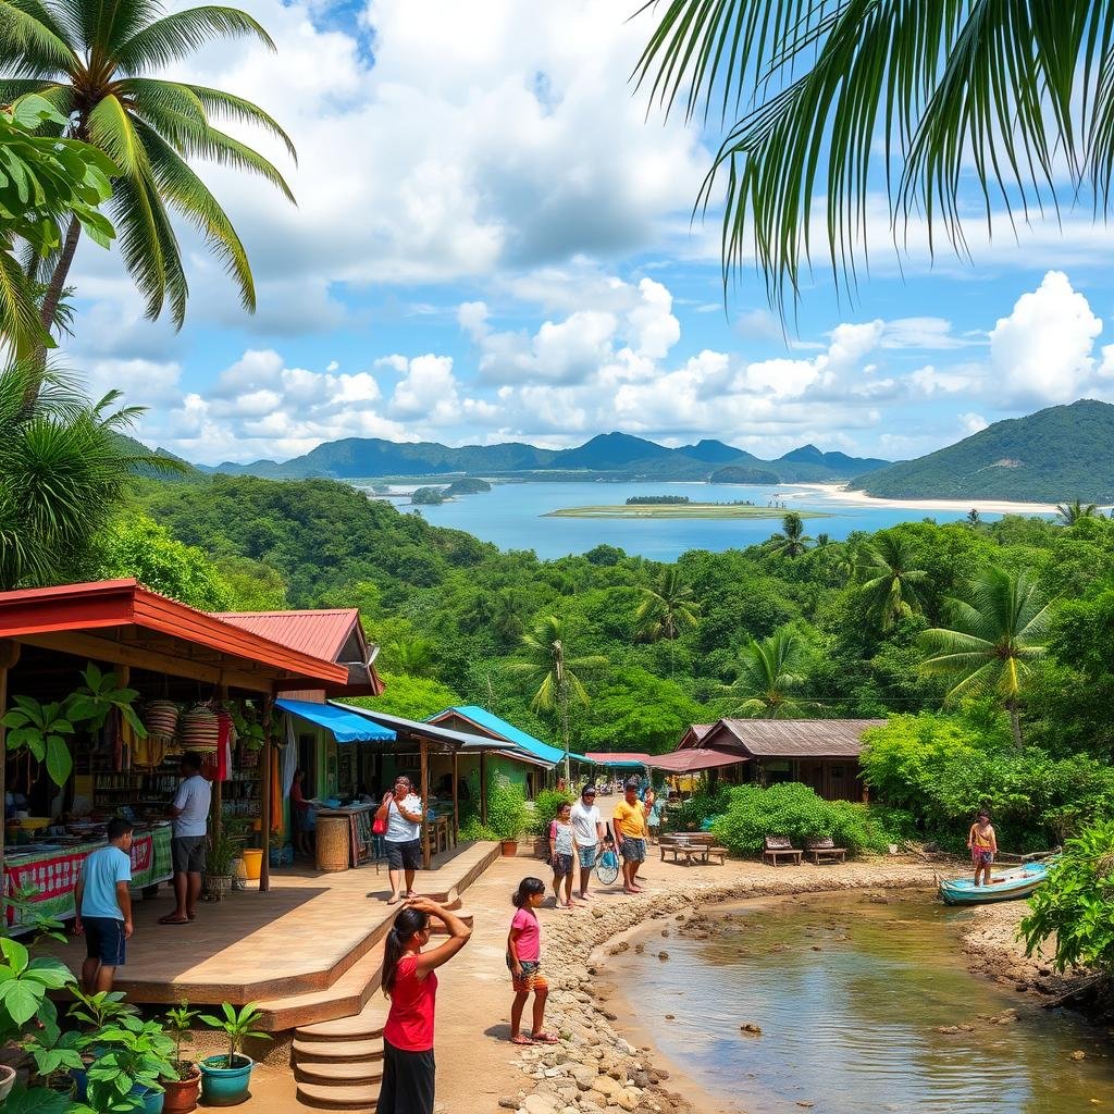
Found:
[{"label": "tan wooden deck with steps in front of the stalls", "polygon": [[[498,854],[497,843],[461,844],[419,871],[417,888],[457,899]],[[163,888],[135,903],[135,935],[116,988],[136,1003],[260,1003],[272,1030],[348,1016],[378,987],[379,945],[395,912],[389,893],[385,867],[326,874],[290,868],[272,871],[267,893],[203,901],[192,925],[159,925],[174,908]],[[51,950],[75,971],[85,959],[80,938]]]}]

